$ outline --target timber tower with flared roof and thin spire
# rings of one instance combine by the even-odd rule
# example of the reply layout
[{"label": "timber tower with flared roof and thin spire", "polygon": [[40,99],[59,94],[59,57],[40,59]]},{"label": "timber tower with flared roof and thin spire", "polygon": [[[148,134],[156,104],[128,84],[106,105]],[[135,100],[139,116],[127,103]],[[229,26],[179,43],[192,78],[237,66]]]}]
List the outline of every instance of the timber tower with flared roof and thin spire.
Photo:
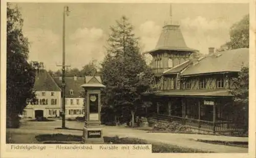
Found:
[{"label": "timber tower with flared roof and thin spire", "polygon": [[183,63],[188,60],[191,53],[197,51],[186,46],[180,25],[173,24],[172,18],[172,5],[170,5],[169,22],[163,26],[156,48],[148,52],[153,57],[153,69],[157,75]]}]

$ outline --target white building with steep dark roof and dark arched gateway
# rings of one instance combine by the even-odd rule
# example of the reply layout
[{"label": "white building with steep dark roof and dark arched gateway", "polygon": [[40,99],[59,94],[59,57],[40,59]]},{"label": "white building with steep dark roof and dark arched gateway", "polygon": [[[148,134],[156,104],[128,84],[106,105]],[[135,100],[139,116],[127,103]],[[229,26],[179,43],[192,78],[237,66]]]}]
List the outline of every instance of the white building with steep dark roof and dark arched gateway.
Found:
[{"label": "white building with steep dark roof and dark arched gateway", "polygon": [[59,116],[61,89],[46,70],[36,72],[34,91],[36,100],[28,102],[23,112],[24,117]]}]

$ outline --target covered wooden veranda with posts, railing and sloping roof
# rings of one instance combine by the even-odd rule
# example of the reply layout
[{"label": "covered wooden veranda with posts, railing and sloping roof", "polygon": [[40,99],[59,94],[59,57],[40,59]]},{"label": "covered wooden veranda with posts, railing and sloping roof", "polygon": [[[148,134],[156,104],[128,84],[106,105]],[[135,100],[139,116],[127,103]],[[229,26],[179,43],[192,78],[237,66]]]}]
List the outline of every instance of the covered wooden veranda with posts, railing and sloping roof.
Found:
[{"label": "covered wooden veranda with posts, railing and sloping roof", "polygon": [[153,103],[157,122],[177,121],[187,127],[208,132],[239,131],[232,120],[232,98],[225,90],[173,90],[146,97]]}]

